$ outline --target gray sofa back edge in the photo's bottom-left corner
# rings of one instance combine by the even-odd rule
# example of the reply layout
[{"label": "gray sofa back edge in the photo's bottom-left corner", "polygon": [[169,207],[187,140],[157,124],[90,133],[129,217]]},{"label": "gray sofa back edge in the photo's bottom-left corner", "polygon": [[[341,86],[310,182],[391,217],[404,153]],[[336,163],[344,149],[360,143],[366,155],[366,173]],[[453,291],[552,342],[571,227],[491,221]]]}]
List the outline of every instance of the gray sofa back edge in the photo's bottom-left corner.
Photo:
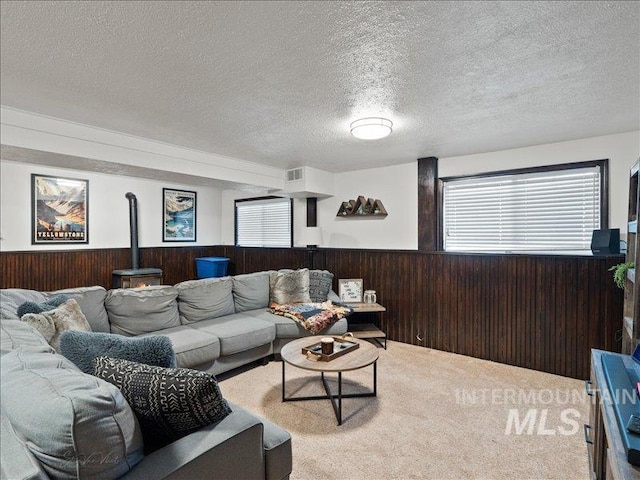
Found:
[{"label": "gray sofa back edge in the photo's bottom-left corner", "polygon": [[0,478],[2,480],[44,480],[49,477],[29,448],[0,414]]}]

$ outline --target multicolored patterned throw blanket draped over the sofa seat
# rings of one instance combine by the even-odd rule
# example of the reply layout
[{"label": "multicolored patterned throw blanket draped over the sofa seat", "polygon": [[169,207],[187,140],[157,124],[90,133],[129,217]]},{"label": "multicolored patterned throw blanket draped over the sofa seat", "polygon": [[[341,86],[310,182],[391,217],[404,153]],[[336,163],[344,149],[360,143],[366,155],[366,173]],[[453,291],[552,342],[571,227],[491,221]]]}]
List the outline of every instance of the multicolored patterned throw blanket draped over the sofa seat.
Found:
[{"label": "multicolored patterned throw blanket draped over the sofa seat", "polygon": [[351,307],[338,305],[330,300],[322,303],[283,303],[272,302],[269,311],[290,318],[302,328],[317,334],[332,323],[353,312]]}]

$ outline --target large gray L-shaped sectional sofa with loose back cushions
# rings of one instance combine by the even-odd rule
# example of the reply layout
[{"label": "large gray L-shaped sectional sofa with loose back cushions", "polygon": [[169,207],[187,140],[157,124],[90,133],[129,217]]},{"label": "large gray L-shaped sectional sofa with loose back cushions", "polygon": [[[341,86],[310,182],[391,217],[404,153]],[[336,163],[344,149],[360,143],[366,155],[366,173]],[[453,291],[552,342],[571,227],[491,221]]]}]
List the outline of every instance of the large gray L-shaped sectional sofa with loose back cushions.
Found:
[{"label": "large gray L-shaped sectional sofa with loose back cushions", "polygon": [[[268,311],[269,275],[109,291],[0,290],[2,478],[288,478],[288,432],[233,404],[222,421],[142,455],[135,415],[120,391],[82,373],[17,315],[25,301],[42,303],[64,293],[77,301],[93,331],[165,335],[178,367],[219,374],[270,358],[288,341],[310,335]],[[328,298],[339,301],[333,292]],[[322,333],[346,331],[341,319]]]}]

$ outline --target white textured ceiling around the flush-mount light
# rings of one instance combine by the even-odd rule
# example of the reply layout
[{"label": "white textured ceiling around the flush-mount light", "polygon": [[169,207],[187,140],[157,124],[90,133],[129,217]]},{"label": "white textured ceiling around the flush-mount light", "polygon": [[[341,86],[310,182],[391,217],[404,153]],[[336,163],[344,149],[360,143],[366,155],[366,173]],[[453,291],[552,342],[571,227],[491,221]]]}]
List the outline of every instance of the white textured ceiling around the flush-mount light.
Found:
[{"label": "white textured ceiling around the flush-mount light", "polygon": [[[640,129],[640,2],[1,2],[1,103],[346,171]],[[349,123],[381,115],[367,142]]]}]

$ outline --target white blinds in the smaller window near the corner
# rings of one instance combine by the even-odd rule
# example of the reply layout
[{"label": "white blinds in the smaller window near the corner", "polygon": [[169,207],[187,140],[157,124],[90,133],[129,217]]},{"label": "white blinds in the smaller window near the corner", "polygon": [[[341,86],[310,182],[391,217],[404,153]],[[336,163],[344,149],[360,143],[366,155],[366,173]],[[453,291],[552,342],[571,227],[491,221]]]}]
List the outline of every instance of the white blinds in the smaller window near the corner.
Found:
[{"label": "white blinds in the smaller window near the corner", "polygon": [[236,245],[291,247],[291,200],[236,200]]}]

